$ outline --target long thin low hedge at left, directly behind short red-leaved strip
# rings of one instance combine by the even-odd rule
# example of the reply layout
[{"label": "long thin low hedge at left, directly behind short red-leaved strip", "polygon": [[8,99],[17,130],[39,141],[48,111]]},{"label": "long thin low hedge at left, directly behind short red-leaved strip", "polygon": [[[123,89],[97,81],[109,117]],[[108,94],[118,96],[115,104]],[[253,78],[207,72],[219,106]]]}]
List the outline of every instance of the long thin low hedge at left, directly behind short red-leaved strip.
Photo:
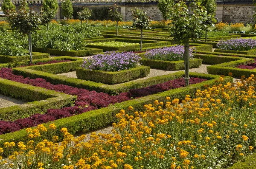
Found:
[{"label": "long thin low hedge at left, directly behind short red-leaved strip", "polygon": [[[52,60],[71,60],[71,61],[74,61],[74,60],[77,60],[77,59],[74,59],[73,57],[70,57],[70,56],[59,56],[59,57],[49,57],[49,58],[44,58],[44,59],[33,59],[32,61],[32,64],[37,64],[38,62],[49,62],[49,61],[52,61]],[[9,63],[3,63],[3,64],[0,64],[0,68],[17,68],[17,67],[20,67],[20,66],[26,66],[26,65],[29,65],[30,64],[30,61],[23,61],[23,62],[9,62]]]}]

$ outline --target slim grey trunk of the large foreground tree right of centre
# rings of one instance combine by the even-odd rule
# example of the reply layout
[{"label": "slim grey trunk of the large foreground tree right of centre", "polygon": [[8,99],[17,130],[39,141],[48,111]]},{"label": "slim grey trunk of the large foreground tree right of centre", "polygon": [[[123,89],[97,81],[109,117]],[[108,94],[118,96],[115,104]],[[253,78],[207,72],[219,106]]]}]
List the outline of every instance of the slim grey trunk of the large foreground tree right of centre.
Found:
[{"label": "slim grey trunk of the large foreground tree right of centre", "polygon": [[189,86],[189,42],[184,45],[185,86]]}]

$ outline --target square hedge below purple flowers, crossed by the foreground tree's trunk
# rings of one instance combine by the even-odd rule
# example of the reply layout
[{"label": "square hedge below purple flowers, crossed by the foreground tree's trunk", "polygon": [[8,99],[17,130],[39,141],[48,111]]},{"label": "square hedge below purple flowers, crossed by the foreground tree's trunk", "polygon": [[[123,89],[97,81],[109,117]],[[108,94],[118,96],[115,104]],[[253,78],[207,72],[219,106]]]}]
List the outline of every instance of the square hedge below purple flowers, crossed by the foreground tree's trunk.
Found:
[{"label": "square hedge below purple flowers, crossed by the foreground tree's trunk", "polygon": [[[163,61],[163,60],[154,60],[154,59],[142,59],[142,65],[149,66],[154,69],[175,71],[175,70],[184,70],[184,61]],[[202,65],[202,59],[189,59],[189,68],[198,68]]]}]

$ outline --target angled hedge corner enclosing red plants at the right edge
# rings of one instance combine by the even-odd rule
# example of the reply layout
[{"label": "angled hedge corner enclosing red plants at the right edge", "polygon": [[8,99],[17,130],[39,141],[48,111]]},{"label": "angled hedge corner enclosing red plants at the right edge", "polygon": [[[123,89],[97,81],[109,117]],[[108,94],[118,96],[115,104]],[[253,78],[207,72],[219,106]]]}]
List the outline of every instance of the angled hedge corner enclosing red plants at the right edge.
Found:
[{"label": "angled hedge corner enclosing red plants at the right edge", "polygon": [[240,60],[228,62],[228,63],[221,63],[218,65],[212,65],[207,67],[207,71],[210,74],[217,74],[217,75],[225,75],[228,76],[228,73],[232,73],[233,77],[240,78],[241,76],[250,77],[251,74],[256,74],[255,69],[240,69],[236,68],[238,65],[247,65],[248,63],[254,63],[254,59],[249,58],[240,58]]}]

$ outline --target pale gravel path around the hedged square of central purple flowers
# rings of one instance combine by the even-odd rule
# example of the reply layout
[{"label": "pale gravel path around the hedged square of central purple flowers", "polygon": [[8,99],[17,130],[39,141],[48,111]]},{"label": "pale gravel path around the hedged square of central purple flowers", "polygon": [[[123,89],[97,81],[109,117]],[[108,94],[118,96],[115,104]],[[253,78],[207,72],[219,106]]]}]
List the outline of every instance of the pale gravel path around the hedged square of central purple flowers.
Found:
[{"label": "pale gravel path around the hedged square of central purple flowers", "polygon": [[[189,69],[189,71],[196,72],[196,73],[207,73],[207,69],[206,69],[207,66],[209,66],[209,65],[202,64],[201,66],[199,66],[199,68],[192,68],[192,69]],[[184,71],[184,70],[166,71],[166,70],[150,69],[150,73],[148,74],[148,76],[140,78],[140,79],[136,79],[133,81],[148,79],[148,78],[151,78],[154,76],[161,76],[161,75],[166,75],[166,74],[180,72],[180,71]],[[70,78],[77,78],[76,71],[72,71],[72,72],[68,72],[68,73],[61,73],[58,75],[67,76]]]}]

